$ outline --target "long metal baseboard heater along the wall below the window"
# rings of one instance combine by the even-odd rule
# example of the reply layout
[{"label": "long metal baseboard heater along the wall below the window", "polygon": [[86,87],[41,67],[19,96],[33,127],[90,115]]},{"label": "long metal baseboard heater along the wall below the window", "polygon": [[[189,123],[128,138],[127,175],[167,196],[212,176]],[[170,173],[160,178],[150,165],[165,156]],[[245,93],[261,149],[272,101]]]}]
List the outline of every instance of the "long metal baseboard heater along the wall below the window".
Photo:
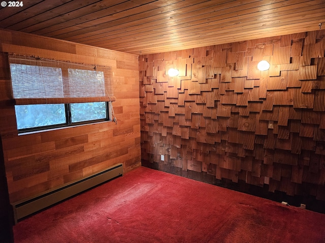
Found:
[{"label": "long metal baseboard heater along the wall below the window", "polygon": [[46,192],[28,200],[18,201],[17,203],[12,204],[15,223],[30,214],[36,213],[42,209],[59,203],[59,201],[122,175],[123,165],[119,163],[104,171],[87,176],[79,181],[64,185],[58,189]]}]

